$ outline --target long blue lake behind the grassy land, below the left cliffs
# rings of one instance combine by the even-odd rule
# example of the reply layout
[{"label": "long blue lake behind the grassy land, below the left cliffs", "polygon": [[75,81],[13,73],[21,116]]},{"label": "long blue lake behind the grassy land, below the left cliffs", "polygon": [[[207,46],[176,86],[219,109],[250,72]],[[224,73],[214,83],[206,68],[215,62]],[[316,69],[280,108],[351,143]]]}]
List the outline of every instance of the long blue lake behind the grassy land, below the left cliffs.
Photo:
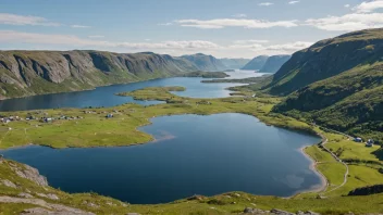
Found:
[{"label": "long blue lake behind the grassy land, below the left cliffs", "polygon": [[[237,71],[227,73],[230,78],[245,78],[261,76],[262,74],[254,71]],[[20,99],[9,99],[0,101],[0,111],[22,111],[37,109],[57,109],[57,108],[87,108],[87,106],[115,106],[119,104],[135,102],[139,104],[156,104],[159,101],[136,101],[131,97],[118,97],[115,93],[133,91],[146,87],[159,86],[183,86],[186,91],[175,92],[180,96],[192,98],[222,98],[228,97],[230,91],[225,88],[238,86],[238,84],[202,84],[202,78],[162,78],[141,83],[132,83],[126,85],[113,85],[98,87],[95,90],[65,92],[55,94],[42,94]]]}]

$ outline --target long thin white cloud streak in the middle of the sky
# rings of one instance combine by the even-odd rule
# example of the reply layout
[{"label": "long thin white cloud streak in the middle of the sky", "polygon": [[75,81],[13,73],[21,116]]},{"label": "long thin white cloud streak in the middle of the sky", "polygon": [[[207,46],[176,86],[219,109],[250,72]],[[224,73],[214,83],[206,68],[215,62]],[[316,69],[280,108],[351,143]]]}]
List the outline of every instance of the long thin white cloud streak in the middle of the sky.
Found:
[{"label": "long thin white cloud streak in the middle of the sky", "polygon": [[263,21],[247,18],[217,18],[217,20],[181,20],[175,21],[183,27],[196,27],[205,29],[219,29],[224,27],[244,27],[244,28],[271,28],[271,27],[295,27],[297,21]]}]

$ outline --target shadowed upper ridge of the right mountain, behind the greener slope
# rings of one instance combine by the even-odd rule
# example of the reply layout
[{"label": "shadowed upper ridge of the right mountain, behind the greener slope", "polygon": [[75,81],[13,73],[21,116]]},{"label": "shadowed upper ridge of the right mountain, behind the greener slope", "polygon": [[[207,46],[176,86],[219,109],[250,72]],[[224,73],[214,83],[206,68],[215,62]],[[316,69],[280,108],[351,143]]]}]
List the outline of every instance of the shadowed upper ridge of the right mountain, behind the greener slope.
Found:
[{"label": "shadowed upper ridge of the right mountain, behind the greener slope", "polygon": [[273,94],[289,94],[312,83],[358,65],[382,61],[383,29],[368,29],[325,39],[293,54],[268,86]]}]

